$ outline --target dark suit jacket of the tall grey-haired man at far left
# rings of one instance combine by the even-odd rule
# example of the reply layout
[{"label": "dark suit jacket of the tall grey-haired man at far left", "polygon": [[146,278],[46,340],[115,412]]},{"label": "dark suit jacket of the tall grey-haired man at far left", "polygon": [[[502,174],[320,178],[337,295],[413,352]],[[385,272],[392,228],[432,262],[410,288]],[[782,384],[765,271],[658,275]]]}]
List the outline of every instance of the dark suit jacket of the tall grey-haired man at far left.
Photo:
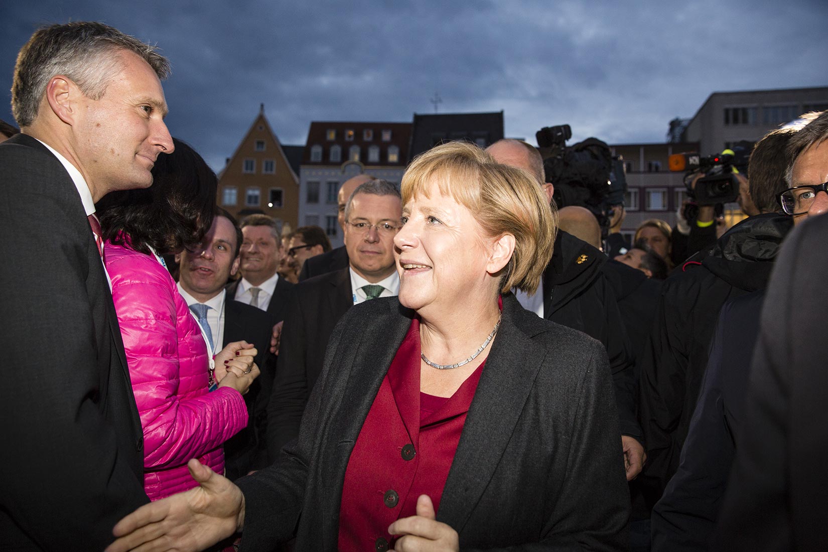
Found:
[{"label": "dark suit jacket of the tall grey-haired man at far left", "polygon": [[103,550],[149,502],[118,319],[83,204],[34,138],[0,144],[0,548]]}]

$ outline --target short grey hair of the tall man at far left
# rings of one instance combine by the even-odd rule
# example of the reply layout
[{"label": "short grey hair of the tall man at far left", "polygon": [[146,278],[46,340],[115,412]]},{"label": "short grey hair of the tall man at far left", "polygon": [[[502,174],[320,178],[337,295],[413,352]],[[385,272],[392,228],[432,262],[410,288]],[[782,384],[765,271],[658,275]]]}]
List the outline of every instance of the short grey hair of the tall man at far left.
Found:
[{"label": "short grey hair of the tall man at far left", "polygon": [[17,54],[12,81],[12,114],[21,127],[37,118],[49,80],[64,74],[89,98],[100,99],[123,63],[119,51],[131,51],[163,80],[170,62],[156,46],[99,22],[70,22],[35,31]]}]

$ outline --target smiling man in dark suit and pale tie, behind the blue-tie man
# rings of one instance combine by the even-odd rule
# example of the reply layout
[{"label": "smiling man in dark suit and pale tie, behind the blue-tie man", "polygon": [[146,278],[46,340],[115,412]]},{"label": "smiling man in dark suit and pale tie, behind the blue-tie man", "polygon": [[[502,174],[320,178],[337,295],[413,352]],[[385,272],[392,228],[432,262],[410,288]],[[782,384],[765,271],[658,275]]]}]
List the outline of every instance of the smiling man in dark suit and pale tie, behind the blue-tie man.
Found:
[{"label": "smiling man in dark suit and pale tie, behind the blue-tie man", "polygon": [[242,220],[241,227],[242,278],[227,286],[228,296],[281,320],[293,284],[277,274],[285,254],[277,223],[266,214],[251,214]]}]

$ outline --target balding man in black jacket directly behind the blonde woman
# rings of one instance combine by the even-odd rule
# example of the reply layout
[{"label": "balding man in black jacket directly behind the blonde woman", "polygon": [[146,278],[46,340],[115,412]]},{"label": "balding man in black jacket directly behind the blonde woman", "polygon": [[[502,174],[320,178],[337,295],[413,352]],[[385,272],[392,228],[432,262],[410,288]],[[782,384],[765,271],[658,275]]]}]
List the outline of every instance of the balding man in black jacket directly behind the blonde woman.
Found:
[{"label": "balding man in black jacket directly behind the blonde woman", "polygon": [[[499,163],[535,175],[551,202],[555,189],[546,182],[542,157],[534,146],[520,140],[504,139],[493,143],[486,151]],[[554,203],[550,205],[555,209]],[[624,464],[630,480],[641,472],[645,457],[641,428],[635,415],[632,346],[623,328],[617,300],[601,271],[606,260],[599,249],[559,231],[541,286],[535,295],[517,294],[517,299],[541,318],[578,329],[604,344],[613,372]]]}]

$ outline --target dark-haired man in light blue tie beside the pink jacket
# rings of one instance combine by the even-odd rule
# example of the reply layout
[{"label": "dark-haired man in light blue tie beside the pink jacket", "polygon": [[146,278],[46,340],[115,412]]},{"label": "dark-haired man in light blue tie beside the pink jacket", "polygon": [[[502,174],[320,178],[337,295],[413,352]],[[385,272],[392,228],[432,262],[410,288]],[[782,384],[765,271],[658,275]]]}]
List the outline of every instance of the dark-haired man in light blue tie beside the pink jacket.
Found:
[{"label": "dark-haired man in light blue tie beside the pink jacket", "polygon": [[236,220],[219,207],[200,251],[185,251],[176,256],[181,272],[178,290],[205,329],[213,353],[242,340],[253,343],[258,350],[256,363],[262,376],[244,396],[248,427],[224,444],[224,466],[231,481],[267,465],[267,400],[276,371],[276,358],[267,348],[273,324],[280,321],[274,314],[228,298],[224,286],[238,271],[241,242],[242,231]]}]

